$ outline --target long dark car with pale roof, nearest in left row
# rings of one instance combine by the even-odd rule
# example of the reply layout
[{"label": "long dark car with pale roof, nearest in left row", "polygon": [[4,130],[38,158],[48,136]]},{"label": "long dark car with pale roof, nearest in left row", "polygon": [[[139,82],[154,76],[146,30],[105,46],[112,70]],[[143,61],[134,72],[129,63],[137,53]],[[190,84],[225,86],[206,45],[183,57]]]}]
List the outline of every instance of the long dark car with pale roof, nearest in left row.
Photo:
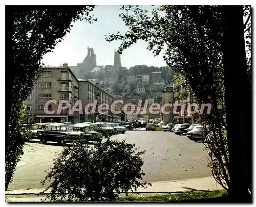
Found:
[{"label": "long dark car with pale roof, nearest in left row", "polygon": [[72,142],[83,135],[81,132],[74,132],[69,125],[49,124],[44,130],[37,131],[37,138],[44,144],[48,141],[57,143]]}]

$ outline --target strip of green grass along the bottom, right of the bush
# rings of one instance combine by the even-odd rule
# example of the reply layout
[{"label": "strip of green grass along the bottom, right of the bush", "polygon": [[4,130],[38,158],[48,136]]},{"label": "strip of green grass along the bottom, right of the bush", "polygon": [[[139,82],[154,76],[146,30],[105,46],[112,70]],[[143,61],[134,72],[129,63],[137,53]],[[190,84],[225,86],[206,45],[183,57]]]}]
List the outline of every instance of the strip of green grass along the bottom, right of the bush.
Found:
[{"label": "strip of green grass along the bottom, right of the bush", "polygon": [[227,195],[226,191],[192,191],[184,193],[173,194],[129,194],[128,196],[120,197],[118,202],[166,202],[166,201],[181,201],[181,200],[195,200],[205,198],[220,198]]}]

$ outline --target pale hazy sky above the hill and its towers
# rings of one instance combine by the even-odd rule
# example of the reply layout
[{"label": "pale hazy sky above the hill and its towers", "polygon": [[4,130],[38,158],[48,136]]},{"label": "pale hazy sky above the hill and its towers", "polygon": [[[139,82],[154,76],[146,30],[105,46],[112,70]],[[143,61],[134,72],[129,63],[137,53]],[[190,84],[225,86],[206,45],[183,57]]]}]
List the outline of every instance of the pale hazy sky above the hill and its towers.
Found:
[{"label": "pale hazy sky above the hill and its towers", "polygon": [[[152,7],[142,6],[142,8]],[[124,34],[127,31],[127,27],[118,16],[121,12],[119,6],[97,6],[93,14],[98,21],[93,24],[84,21],[75,22],[70,33],[55,46],[53,53],[43,57],[42,63],[51,66],[68,63],[69,66],[76,66],[86,58],[89,46],[94,48],[97,65],[114,65],[114,50],[118,48],[120,41],[107,42],[104,35],[116,34],[118,31]],[[161,54],[154,57],[146,47],[146,42],[138,41],[124,50],[121,55],[122,66],[127,68],[135,65],[166,66]]]}]

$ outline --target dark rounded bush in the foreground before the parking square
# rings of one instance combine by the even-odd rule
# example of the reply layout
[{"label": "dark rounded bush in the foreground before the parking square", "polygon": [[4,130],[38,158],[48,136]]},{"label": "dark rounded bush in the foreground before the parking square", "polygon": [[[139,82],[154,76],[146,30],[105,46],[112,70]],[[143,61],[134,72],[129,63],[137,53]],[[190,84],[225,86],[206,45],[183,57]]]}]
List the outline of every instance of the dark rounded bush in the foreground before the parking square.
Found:
[{"label": "dark rounded bush in the foreground before the parking square", "polygon": [[51,201],[114,201],[118,193],[146,188],[140,182],[144,172],[140,158],[145,151],[135,152],[135,144],[110,140],[89,147],[80,140],[63,149],[54,166],[41,182],[53,179],[47,198]]}]

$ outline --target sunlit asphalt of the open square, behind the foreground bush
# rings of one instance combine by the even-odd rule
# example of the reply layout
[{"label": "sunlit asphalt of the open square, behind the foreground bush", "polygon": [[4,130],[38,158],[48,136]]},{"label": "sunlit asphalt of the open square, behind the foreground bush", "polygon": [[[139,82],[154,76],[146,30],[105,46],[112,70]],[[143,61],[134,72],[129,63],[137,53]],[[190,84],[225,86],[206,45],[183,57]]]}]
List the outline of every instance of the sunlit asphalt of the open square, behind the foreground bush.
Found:
[{"label": "sunlit asphalt of the open square, behind the foreground bush", "polygon": [[[126,142],[135,143],[136,147],[146,151],[142,156],[142,169],[147,182],[211,176],[203,144],[191,141],[186,136],[169,132],[127,131],[115,135],[113,139],[126,139]],[[45,145],[36,140],[26,143],[25,153],[8,190],[44,188],[40,181],[45,178],[45,170],[50,168],[52,159],[61,150],[62,146],[57,143]]]}]

